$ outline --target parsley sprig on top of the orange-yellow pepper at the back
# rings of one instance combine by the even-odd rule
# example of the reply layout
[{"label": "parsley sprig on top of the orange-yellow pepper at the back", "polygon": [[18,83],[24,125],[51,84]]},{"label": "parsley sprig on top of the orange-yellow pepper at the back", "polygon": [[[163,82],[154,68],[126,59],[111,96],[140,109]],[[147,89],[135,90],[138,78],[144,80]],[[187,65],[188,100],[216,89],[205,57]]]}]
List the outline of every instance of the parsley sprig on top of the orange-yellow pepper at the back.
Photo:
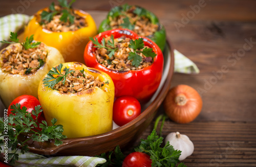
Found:
[{"label": "parsley sprig on top of the orange-yellow pepper at the back", "polygon": [[[45,20],[46,22],[50,22],[53,19],[53,16],[57,15],[57,14],[61,14],[61,17],[59,18],[61,21],[63,22],[67,22],[69,21],[71,24],[74,23],[75,20],[75,16],[73,14],[72,11],[72,4],[75,2],[76,0],[72,0],[69,4],[67,2],[67,0],[58,0],[59,2],[59,6],[62,8],[61,11],[57,11],[55,9],[55,4],[52,3],[49,6],[49,12],[47,11],[42,11],[41,13],[41,20]],[[42,24],[44,24],[44,21],[41,22]]]}]

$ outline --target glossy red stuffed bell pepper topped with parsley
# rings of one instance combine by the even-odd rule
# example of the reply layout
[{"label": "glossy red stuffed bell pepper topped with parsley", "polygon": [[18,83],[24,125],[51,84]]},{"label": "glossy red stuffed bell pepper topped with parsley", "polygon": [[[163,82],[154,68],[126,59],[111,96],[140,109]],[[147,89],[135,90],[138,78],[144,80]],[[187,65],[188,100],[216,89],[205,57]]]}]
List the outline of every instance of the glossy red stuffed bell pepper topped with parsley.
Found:
[{"label": "glossy red stuffed bell pepper topped with parsley", "polygon": [[162,77],[163,54],[152,40],[127,29],[105,31],[91,38],[84,50],[88,67],[108,73],[115,97],[133,96],[148,101]]}]

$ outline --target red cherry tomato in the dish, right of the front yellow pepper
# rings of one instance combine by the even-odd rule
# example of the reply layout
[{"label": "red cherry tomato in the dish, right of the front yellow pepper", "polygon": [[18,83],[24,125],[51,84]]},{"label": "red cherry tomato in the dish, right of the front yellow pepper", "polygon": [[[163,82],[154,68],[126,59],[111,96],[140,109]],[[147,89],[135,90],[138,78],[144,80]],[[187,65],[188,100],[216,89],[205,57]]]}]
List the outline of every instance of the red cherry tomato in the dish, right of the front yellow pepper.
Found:
[{"label": "red cherry tomato in the dish, right of the front yellow pepper", "polygon": [[132,96],[122,96],[114,101],[113,120],[119,126],[134,120],[140,113],[140,102]]}]

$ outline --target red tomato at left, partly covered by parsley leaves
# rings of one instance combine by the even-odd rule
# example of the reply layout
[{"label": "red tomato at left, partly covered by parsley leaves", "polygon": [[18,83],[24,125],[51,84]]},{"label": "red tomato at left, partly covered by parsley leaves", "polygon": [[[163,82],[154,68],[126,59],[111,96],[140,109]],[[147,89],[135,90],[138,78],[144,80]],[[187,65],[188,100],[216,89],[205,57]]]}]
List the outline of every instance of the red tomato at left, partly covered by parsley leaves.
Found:
[{"label": "red tomato at left, partly covered by parsley leaves", "polygon": [[[27,112],[29,112],[29,113],[32,112],[32,110],[35,108],[35,106],[40,105],[39,100],[38,100],[36,97],[34,97],[34,96],[31,96],[31,95],[22,95],[22,96],[19,96],[19,97],[15,98],[15,99],[11,102],[10,106],[8,107],[8,112],[7,112],[7,115],[8,115],[8,116],[9,116],[10,114],[12,114],[11,111],[12,111],[13,109],[11,109],[11,105],[12,105],[12,104],[15,105],[15,104],[17,104],[17,103],[20,104],[20,108],[22,108],[23,106],[26,106],[26,107],[27,107]],[[36,117],[35,117],[34,115],[32,115],[32,118],[33,118],[34,120],[36,119]],[[42,114],[42,112],[38,114],[37,120],[38,120],[38,123],[41,123],[42,120],[45,120],[45,117],[44,117],[44,115]],[[37,127],[36,129],[41,130],[39,127]]]}]

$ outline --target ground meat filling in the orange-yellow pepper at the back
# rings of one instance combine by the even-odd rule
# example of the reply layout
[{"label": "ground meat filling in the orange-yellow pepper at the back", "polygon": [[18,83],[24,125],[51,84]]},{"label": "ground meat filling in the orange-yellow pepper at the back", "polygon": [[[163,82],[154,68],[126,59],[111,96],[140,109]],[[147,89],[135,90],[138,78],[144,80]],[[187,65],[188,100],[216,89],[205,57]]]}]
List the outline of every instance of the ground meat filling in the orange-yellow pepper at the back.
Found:
[{"label": "ground meat filling in the orange-yellow pepper at the back", "polygon": [[42,28],[52,32],[68,32],[68,31],[76,31],[78,29],[81,29],[87,26],[86,19],[75,14],[73,10],[72,10],[73,16],[75,16],[73,24],[70,24],[69,21],[63,22],[60,20],[60,17],[62,15],[61,13],[62,8],[60,8],[59,6],[55,6],[55,10],[58,11],[58,14],[54,15],[53,19],[50,22],[46,20],[39,20],[39,22],[42,23]]}]

